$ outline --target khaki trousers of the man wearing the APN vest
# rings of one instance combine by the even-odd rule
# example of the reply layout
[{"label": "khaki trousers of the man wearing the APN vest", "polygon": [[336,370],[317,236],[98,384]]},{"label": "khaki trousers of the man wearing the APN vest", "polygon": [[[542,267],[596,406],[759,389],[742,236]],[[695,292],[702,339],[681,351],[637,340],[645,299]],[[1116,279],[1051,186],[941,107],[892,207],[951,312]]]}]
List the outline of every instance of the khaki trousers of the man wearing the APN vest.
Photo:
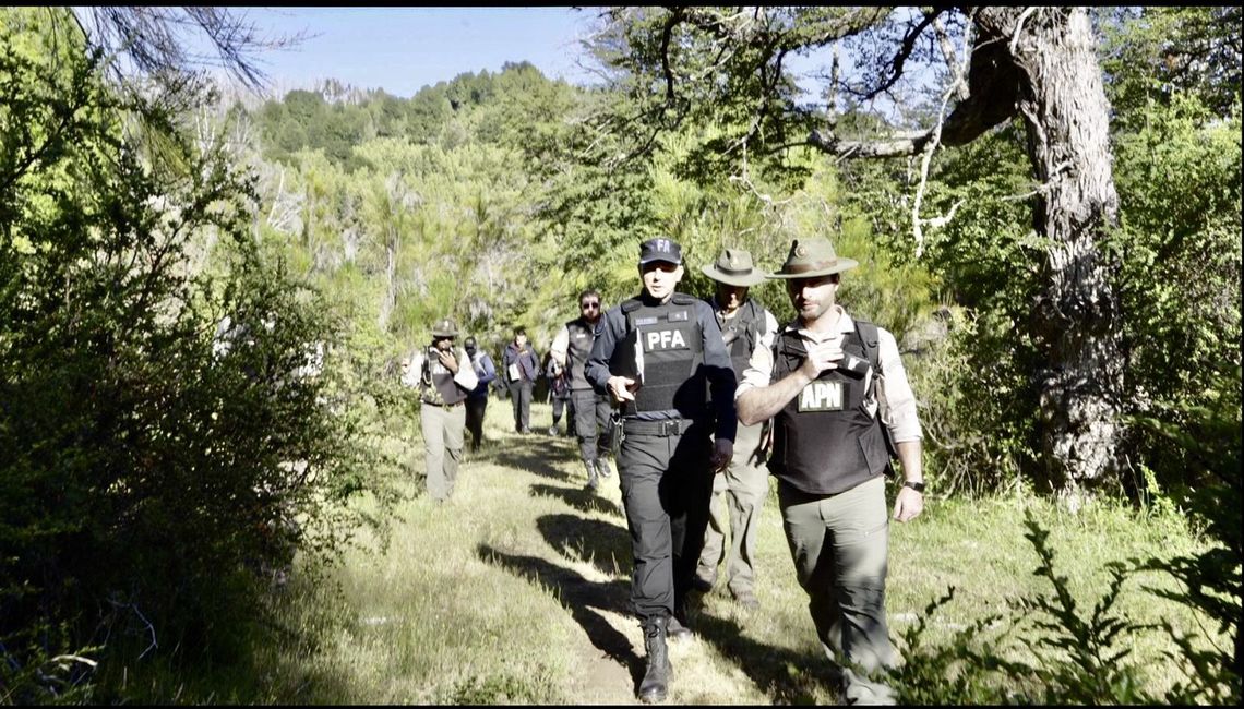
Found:
[{"label": "khaki trousers of the man wearing the APN vest", "polygon": [[892,703],[889,689],[868,679],[897,663],[886,626],[884,478],[837,495],[809,495],[780,483],[778,500],[807,609],[826,654],[843,668],[847,699]]}]

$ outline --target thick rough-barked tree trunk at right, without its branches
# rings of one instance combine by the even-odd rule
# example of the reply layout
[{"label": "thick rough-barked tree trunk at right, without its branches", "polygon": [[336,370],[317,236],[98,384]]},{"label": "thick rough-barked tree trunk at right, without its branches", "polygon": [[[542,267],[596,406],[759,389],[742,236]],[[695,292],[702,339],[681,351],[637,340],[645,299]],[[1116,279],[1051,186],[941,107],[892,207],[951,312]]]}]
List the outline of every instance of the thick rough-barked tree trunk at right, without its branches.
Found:
[{"label": "thick rough-barked tree trunk at right, without its branches", "polygon": [[1121,322],[1100,248],[1118,224],[1108,103],[1082,7],[986,7],[977,22],[1019,68],[1016,108],[1042,185],[1034,225],[1050,243],[1034,311],[1041,439],[1050,483],[1075,503],[1120,469]]}]

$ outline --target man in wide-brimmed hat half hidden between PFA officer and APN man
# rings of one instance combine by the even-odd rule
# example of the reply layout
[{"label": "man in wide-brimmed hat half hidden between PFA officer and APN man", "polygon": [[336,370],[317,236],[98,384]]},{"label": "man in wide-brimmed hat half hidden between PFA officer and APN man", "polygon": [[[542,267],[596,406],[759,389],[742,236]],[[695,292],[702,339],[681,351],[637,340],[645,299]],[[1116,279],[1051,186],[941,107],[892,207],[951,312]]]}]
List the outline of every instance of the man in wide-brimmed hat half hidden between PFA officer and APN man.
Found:
[{"label": "man in wide-brimmed hat half hidden between PFA officer and APN man", "polygon": [[[700,270],[717,282],[717,295],[709,305],[722,327],[734,374],[741,381],[751,353],[758,348],[771,348],[778,332],[774,315],[760,301],[748,297],[749,289],[765,280],[765,272],[753,266],[751,254],[743,249],[725,249],[715,264]],[[695,571],[694,586],[707,593],[713,588],[717,567],[724,560],[726,588],[745,608],[760,605],[755,593],[755,556],[760,510],[769,495],[769,469],[765,466],[768,433],[768,422],[739,424],[734,437],[734,458],[725,474],[713,481],[704,551]],[[722,510],[722,498],[726,499],[725,511]],[[725,546],[726,529],[729,550]]]}]

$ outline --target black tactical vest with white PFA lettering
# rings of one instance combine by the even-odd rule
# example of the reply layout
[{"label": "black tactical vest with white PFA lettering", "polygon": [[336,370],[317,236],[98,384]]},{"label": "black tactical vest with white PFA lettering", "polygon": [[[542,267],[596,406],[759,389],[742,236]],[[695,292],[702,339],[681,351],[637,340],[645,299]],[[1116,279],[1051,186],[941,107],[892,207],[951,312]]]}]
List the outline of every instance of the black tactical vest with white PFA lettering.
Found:
[{"label": "black tactical vest with white PFA lettering", "polygon": [[702,418],[707,412],[704,331],[695,304],[678,292],[664,305],[639,299],[622,304],[627,333],[613,350],[610,369],[642,383],[622,415],[677,410],[682,418]]}]

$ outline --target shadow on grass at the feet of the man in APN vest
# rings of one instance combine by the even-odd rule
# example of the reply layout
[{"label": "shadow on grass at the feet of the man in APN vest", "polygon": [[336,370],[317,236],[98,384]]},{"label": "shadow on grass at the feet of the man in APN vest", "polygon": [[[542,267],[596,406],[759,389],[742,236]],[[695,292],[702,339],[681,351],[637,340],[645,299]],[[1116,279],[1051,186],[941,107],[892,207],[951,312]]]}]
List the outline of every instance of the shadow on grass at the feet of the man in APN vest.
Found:
[{"label": "shadow on grass at the feet of the man in APN vest", "polygon": [[744,634],[738,622],[703,611],[693,617],[693,628],[700,642],[738,664],[759,689],[774,698],[774,704],[814,704],[819,689],[829,689],[831,695],[838,693],[841,674],[820,651],[796,652],[758,642]]}]

